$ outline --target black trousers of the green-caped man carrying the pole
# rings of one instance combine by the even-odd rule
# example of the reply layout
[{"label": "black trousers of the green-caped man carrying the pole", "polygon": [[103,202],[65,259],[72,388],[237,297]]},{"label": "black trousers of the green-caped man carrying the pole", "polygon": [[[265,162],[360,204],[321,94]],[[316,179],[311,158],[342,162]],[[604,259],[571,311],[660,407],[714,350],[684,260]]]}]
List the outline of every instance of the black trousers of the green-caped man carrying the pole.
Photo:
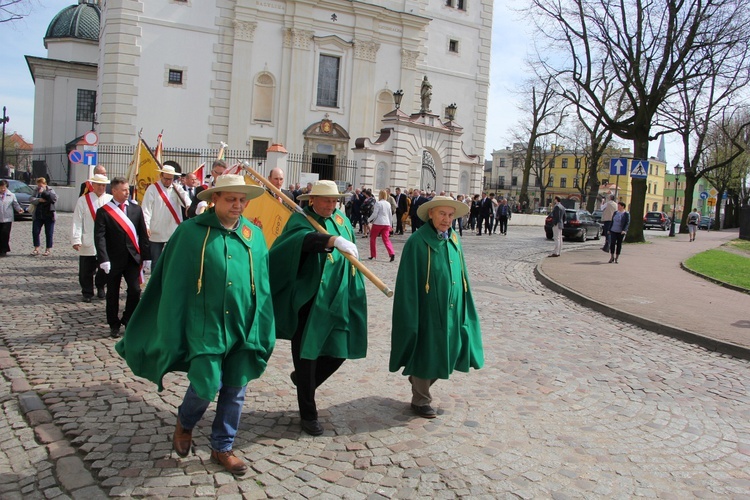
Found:
[{"label": "black trousers of the green-caped man carrying the pole", "polygon": [[297,383],[297,404],[302,420],[317,420],[318,408],[315,405],[315,390],[344,363],[343,358],[321,356],[318,359],[302,359],[302,332],[307,324],[312,301],[299,311],[297,331],[292,337],[292,361]]}]

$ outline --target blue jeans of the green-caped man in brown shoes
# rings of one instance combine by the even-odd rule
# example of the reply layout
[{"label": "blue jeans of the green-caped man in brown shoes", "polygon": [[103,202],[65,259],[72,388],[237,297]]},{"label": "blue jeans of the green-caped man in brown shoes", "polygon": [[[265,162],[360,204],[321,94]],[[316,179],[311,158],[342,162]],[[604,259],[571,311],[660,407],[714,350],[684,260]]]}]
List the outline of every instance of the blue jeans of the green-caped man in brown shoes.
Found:
[{"label": "blue jeans of the green-caped man in brown shoes", "polygon": [[[216,416],[211,425],[211,449],[225,452],[232,449],[234,437],[240,426],[242,406],[245,404],[245,390],[243,387],[223,386],[219,389],[219,399],[216,402]],[[211,401],[201,399],[190,384],[182,404],[177,409],[177,418],[185,430],[193,429],[206,412]]]}]

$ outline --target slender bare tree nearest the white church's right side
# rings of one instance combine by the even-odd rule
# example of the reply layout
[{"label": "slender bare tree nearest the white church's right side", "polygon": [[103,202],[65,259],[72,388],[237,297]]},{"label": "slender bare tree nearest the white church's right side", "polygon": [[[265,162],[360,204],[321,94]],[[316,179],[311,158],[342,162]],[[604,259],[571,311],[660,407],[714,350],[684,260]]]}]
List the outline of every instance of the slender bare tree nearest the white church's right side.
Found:
[{"label": "slender bare tree nearest the white church's right side", "polygon": [[[531,90],[528,93],[528,120],[522,128],[525,132],[526,156],[523,166],[523,181],[521,183],[521,194],[519,202],[522,207],[531,207],[529,203],[529,177],[534,164],[534,152],[538,148],[540,139],[554,135],[560,129],[565,119],[564,104],[558,98],[554,90],[555,80],[547,77],[531,84]],[[544,185],[544,180],[537,177],[539,182]],[[544,192],[542,192],[543,200]]]}]

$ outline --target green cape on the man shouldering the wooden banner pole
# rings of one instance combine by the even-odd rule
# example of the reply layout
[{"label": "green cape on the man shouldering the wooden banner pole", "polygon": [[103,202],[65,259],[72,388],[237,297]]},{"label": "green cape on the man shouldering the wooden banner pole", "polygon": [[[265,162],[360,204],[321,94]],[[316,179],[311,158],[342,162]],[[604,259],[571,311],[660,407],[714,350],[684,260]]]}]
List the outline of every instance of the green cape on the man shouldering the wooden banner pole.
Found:
[{"label": "green cape on the man shouldering the wooden banner pole", "polygon": [[[324,219],[311,215],[332,236],[354,242],[348,217],[335,210]],[[338,251],[302,258],[305,236],[316,230],[303,215],[292,214],[270,250],[271,292],[276,337],[291,340],[300,308],[313,301],[302,333],[301,357],[364,358],[367,354],[367,297],[362,274]]]}]

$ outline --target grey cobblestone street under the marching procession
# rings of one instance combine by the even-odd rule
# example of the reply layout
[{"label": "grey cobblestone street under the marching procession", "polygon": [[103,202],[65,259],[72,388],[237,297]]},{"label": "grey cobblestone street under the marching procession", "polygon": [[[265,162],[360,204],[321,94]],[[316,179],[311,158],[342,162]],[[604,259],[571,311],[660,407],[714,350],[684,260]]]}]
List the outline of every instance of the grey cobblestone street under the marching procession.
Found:
[{"label": "grey cobblestone street under the marching procession", "polygon": [[[551,243],[513,226],[465,233],[486,364],[434,386],[437,419],[411,415],[388,373],[391,299],[368,285],[369,353],[319,391],[323,436],[300,434],[280,341],[235,443],[250,472],[210,463],[213,407],[179,459],[185,377],[158,393],[115,355],[103,301],[80,302],[69,228],[60,214],[53,256],[30,257],[31,225],[14,223],[0,260],[1,498],[750,498],[748,362],[547,290],[533,268]],[[393,286],[398,258],[378,255],[366,262]]]}]

